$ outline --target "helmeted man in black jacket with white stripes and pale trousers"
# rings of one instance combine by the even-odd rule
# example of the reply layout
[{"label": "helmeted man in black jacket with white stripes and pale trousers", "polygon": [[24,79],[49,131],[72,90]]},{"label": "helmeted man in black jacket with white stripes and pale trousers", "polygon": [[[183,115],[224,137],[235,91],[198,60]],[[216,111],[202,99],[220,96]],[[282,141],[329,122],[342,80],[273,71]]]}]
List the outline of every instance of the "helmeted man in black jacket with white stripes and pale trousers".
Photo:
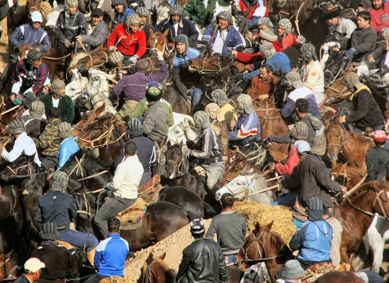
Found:
[{"label": "helmeted man in black jacket with white stripes and pale trousers", "polygon": [[222,158],[221,142],[218,135],[209,123],[208,115],[204,111],[197,111],[193,115],[195,132],[200,135],[193,141],[188,140],[189,155],[201,159],[202,167],[207,171],[207,187],[214,189],[223,177],[225,166]]}]

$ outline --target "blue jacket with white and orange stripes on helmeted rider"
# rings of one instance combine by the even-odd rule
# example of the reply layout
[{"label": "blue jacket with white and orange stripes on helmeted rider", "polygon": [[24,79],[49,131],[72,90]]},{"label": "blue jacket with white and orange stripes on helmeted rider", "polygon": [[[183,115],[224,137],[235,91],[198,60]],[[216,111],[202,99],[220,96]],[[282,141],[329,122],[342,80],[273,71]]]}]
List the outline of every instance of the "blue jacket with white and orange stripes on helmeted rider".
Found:
[{"label": "blue jacket with white and orange stripes on helmeted rider", "polygon": [[240,115],[238,121],[236,121],[235,127],[232,131],[228,132],[229,140],[242,140],[240,145],[245,145],[251,141],[261,140],[261,128],[259,126],[259,120],[257,114],[244,113]]}]

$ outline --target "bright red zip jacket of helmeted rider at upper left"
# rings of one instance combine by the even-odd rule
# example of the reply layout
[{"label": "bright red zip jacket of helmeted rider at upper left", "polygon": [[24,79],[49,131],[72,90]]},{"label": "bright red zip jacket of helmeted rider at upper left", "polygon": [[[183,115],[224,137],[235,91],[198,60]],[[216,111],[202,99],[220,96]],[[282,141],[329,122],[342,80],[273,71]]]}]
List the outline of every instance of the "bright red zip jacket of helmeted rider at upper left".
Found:
[{"label": "bright red zip jacket of helmeted rider at upper left", "polygon": [[142,58],[146,53],[146,34],[144,31],[138,31],[135,34],[127,33],[126,26],[124,24],[117,25],[112,31],[111,36],[108,38],[107,47],[115,46],[116,42],[122,37],[122,39],[116,50],[124,56],[137,55],[138,59]]}]

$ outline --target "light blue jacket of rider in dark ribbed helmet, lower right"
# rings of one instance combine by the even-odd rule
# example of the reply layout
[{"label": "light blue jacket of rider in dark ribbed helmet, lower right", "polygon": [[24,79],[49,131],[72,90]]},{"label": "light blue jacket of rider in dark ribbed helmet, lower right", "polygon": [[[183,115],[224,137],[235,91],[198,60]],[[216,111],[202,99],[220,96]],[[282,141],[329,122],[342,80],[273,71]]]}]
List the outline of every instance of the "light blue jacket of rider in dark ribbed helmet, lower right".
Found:
[{"label": "light blue jacket of rider in dark ribbed helmet, lower right", "polygon": [[298,259],[304,261],[329,261],[332,228],[324,220],[306,221],[290,240],[291,249],[298,249]]}]

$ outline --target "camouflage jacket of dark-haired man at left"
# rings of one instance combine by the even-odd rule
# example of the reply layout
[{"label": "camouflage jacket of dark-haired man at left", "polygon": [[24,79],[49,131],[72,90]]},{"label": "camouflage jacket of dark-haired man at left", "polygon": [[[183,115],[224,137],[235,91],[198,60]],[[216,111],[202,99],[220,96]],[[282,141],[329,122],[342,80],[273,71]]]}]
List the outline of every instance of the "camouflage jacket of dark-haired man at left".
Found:
[{"label": "camouflage jacket of dark-haired man at left", "polygon": [[61,139],[58,136],[58,125],[60,123],[60,119],[52,118],[43,133],[38,139],[35,139],[35,145],[37,148],[44,149],[42,154],[45,156],[56,156],[60,149]]}]

